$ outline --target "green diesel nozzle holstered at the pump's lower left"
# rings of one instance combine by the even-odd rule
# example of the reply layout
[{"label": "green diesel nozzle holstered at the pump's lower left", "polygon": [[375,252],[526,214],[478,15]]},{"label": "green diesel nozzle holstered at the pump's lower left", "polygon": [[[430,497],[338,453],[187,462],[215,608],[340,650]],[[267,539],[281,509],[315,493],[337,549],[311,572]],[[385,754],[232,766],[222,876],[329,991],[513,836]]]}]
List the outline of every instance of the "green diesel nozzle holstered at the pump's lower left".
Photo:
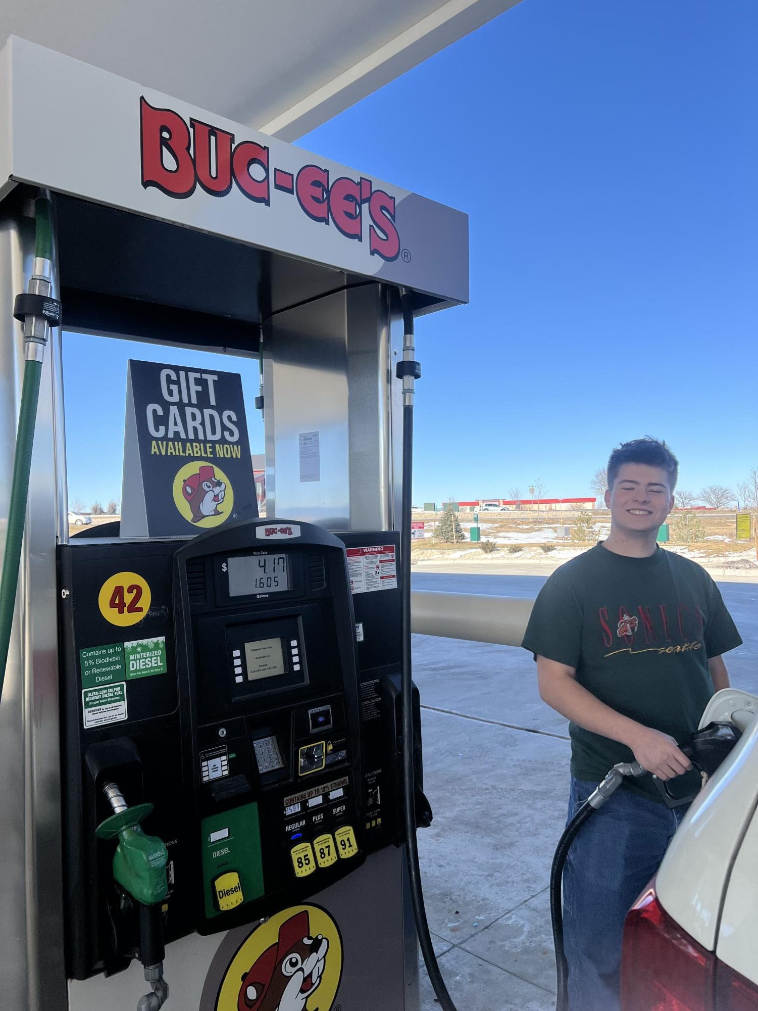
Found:
[{"label": "green diesel nozzle holstered at the pump's lower left", "polygon": [[161,923],[161,904],[169,894],[166,844],[158,836],[148,835],[139,825],[153,810],[152,804],[127,807],[115,783],[106,783],[103,792],[113,814],[97,826],[95,834],[99,839],[118,839],[113,878],[139,909],[139,960],[152,992],[139,999],[137,1011],[159,1011],[169,999],[169,986],[163,978]]}]

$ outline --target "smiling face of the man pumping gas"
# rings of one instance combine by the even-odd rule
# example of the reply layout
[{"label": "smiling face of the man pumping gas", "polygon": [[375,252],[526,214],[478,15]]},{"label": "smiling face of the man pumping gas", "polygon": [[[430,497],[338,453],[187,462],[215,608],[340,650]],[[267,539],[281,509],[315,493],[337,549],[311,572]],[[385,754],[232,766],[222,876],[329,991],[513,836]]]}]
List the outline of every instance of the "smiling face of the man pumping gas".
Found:
[{"label": "smiling face of the man pumping gas", "polygon": [[662,467],[625,463],[605,492],[611,530],[626,536],[657,533],[674,507],[670,478]]}]

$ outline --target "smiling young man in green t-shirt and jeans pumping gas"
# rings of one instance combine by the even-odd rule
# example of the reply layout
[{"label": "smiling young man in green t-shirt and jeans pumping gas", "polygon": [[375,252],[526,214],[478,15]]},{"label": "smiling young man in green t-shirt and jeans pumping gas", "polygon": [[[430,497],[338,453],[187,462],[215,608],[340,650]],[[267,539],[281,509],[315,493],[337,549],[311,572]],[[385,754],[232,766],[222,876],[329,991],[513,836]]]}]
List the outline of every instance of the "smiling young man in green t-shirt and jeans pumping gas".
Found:
[{"label": "smiling young man in green t-shirt and jeans pumping gas", "polygon": [[[613,450],[610,535],[554,572],[532,612],[524,646],[540,695],[571,721],[569,818],[617,762],[636,759],[661,779],[686,772],[677,741],[729,685],[722,654],[742,639],[718,586],[656,543],[677,472],[654,439]],[[625,780],[577,836],[563,891],[571,1011],[619,1008],[624,920],[681,816],[644,775]]]}]

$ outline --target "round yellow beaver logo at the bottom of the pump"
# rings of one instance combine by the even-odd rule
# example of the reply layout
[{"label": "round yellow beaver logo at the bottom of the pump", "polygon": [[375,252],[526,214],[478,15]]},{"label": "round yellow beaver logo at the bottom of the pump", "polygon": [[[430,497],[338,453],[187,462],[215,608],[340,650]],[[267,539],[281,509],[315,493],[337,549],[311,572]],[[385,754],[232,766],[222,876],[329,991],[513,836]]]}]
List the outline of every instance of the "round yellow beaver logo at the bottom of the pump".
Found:
[{"label": "round yellow beaver logo at the bottom of the pump", "polygon": [[238,948],[214,1011],[329,1011],[342,974],[335,921],[318,906],[292,906]]}]

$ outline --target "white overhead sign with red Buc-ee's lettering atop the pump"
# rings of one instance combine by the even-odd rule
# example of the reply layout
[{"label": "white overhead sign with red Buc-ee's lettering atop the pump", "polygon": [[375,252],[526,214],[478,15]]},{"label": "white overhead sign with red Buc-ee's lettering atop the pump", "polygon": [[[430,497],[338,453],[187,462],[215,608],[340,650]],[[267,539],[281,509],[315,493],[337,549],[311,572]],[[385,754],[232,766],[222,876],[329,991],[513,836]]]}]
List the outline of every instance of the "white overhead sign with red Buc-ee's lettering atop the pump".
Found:
[{"label": "white overhead sign with red Buc-ee's lettering atop the pump", "polygon": [[8,179],[49,186],[468,299],[460,211],[15,37],[0,54],[0,195]]}]

